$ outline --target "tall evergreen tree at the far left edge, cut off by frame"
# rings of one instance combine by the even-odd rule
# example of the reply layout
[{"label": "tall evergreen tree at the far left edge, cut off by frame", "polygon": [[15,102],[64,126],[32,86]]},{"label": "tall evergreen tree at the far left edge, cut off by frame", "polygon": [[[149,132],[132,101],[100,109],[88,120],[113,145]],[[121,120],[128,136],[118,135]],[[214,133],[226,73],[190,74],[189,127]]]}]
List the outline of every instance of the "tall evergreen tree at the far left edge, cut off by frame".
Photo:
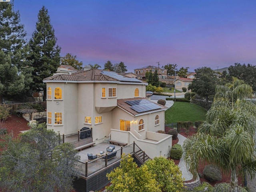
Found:
[{"label": "tall evergreen tree at the far left edge, cut off by frame", "polygon": [[32,82],[32,67],[27,59],[26,32],[20,24],[20,14],[14,12],[13,6],[13,2],[0,3],[1,103],[3,97],[24,96]]}]

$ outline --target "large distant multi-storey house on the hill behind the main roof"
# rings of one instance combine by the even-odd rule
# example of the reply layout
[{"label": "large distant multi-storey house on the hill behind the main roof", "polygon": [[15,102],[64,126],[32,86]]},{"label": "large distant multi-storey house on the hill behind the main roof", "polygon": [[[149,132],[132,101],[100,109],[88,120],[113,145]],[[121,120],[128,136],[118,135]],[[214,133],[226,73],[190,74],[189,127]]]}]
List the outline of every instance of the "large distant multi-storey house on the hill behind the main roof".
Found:
[{"label": "large distant multi-storey house on the hill behind the main roof", "polygon": [[140,76],[143,80],[145,80],[146,79],[146,72],[150,72],[150,71],[152,71],[152,73],[157,71],[158,75],[159,75],[159,80],[161,82],[162,82],[162,80],[167,78],[167,69],[158,68],[158,67],[152,66],[152,65],[134,69],[134,74]]}]

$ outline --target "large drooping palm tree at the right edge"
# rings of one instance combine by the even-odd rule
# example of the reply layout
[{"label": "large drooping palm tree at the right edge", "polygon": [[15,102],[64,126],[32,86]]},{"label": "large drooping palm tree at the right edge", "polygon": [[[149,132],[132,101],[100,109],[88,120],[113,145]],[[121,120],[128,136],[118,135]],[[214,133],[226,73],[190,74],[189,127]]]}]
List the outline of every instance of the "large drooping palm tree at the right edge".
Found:
[{"label": "large drooping palm tree at the right edge", "polygon": [[230,191],[238,192],[238,173],[256,174],[256,106],[245,100],[252,88],[237,78],[216,86],[214,102],[198,133],[183,144],[184,160],[194,176],[200,161],[230,172]]}]

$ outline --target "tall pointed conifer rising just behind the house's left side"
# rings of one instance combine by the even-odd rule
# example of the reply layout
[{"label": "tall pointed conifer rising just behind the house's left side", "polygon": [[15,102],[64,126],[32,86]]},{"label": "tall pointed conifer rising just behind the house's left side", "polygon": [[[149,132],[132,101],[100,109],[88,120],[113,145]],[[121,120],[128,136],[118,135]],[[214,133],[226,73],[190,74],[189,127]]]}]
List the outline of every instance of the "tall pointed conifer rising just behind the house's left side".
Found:
[{"label": "tall pointed conifer rising just behind the house's left side", "polygon": [[30,59],[33,60],[34,90],[44,90],[43,99],[46,99],[46,84],[43,79],[52,76],[60,66],[60,47],[56,45],[57,38],[50,23],[48,10],[43,6],[38,14],[36,30],[29,41],[31,49]]}]

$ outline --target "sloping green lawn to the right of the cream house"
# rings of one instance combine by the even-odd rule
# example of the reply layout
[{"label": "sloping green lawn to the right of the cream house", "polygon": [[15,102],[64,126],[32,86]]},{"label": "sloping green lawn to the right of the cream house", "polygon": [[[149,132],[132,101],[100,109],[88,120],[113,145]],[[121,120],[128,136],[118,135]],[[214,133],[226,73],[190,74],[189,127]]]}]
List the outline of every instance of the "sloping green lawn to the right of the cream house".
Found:
[{"label": "sloping green lawn to the right of the cream house", "polygon": [[165,112],[166,124],[179,121],[203,121],[205,120],[206,109],[189,102],[175,102]]}]

